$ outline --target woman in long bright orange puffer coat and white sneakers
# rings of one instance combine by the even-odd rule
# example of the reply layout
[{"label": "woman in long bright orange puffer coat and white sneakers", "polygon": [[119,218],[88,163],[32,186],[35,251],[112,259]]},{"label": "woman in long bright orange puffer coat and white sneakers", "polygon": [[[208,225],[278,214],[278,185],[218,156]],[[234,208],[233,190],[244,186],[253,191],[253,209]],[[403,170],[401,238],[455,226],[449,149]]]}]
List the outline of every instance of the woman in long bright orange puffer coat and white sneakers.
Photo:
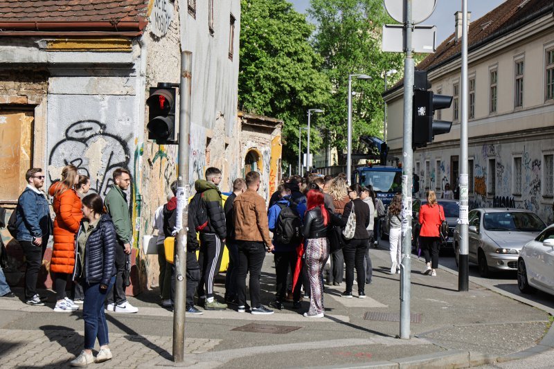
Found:
[{"label": "woman in long bright orange puffer coat and white sneakers", "polygon": [[79,230],[82,210],[81,200],[73,189],[79,181],[75,165],[66,165],[62,181],[53,183],[48,194],[54,198],[54,246],[50,271],[54,273],[57,302],[55,312],[73,312],[79,307],[65,295],[68,276],[75,267],[75,234]]}]

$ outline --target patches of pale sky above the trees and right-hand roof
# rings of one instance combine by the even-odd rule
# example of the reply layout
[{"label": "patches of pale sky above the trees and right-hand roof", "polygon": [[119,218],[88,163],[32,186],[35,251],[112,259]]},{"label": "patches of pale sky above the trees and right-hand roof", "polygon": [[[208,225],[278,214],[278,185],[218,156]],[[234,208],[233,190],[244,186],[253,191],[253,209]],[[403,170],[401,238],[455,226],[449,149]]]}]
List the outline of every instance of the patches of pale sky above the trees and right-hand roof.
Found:
[{"label": "patches of pale sky above the trees and right-hand roof", "polygon": [[[305,13],[310,0],[288,0],[298,12]],[[471,19],[476,20],[496,8],[505,0],[467,0],[467,10],[472,12]],[[422,24],[437,26],[437,46],[454,33],[454,13],[462,10],[461,0],[437,0],[433,15]]]}]

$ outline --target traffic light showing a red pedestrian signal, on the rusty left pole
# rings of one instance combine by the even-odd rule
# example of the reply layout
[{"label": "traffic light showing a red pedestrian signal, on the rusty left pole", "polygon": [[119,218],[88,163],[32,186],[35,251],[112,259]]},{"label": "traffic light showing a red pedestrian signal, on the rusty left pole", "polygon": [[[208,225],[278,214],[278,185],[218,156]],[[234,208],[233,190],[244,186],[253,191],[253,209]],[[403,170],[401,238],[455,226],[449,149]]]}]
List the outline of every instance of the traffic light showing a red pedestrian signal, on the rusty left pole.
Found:
[{"label": "traffic light showing a red pedestrian signal, on the rusty left pole", "polygon": [[[163,85],[163,84],[162,84]],[[175,139],[175,96],[172,87],[151,87],[146,100],[149,108],[148,139],[159,145],[177,143]]]}]

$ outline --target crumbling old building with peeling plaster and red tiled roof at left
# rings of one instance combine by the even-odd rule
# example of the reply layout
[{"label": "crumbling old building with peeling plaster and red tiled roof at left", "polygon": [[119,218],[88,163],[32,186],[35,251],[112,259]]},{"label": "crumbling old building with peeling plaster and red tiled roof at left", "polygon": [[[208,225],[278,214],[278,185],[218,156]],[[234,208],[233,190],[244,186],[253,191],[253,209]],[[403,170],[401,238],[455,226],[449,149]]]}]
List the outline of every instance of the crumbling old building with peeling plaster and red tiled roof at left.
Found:
[{"label": "crumbling old building with peeling plaster and red tiled roof at left", "polygon": [[[179,83],[181,51],[191,52],[190,184],[215,166],[229,190],[242,175],[247,145],[237,119],[240,0],[8,4],[0,14],[0,206],[9,216],[33,166],[44,169],[50,186],[64,165],[76,165],[102,197],[115,168],[127,168],[134,224],[127,292],[157,285],[157,257],[141,255],[139,245],[152,233],[179,159],[176,145],[148,140],[145,100],[159,82]],[[271,153],[276,137],[280,148],[274,131],[256,141],[260,152]],[[19,246],[6,231],[2,237],[15,275]],[[47,251],[46,270],[49,259]]]}]

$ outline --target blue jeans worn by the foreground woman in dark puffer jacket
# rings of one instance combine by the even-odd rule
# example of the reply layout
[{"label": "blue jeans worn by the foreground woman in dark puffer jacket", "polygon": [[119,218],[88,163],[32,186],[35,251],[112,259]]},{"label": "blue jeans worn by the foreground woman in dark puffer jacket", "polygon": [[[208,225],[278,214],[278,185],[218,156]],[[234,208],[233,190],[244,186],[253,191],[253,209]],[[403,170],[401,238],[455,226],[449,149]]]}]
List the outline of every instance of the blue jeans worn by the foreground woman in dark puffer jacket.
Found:
[{"label": "blue jeans worn by the foreground woman in dark puffer jacket", "polygon": [[109,343],[108,325],[104,315],[104,302],[106,296],[114,287],[116,276],[111,277],[107,289],[100,289],[100,283],[82,282],[84,289],[84,303],[82,305],[82,318],[84,320],[84,349],[92,350],[96,337],[100,346]]}]

